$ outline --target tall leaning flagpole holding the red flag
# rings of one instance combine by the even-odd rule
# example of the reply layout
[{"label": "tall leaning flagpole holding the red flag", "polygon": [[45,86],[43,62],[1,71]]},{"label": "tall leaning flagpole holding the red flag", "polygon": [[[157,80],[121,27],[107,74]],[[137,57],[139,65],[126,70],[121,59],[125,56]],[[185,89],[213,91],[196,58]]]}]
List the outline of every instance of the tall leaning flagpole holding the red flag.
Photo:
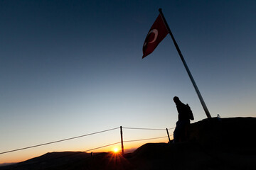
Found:
[{"label": "tall leaning flagpole holding the red flag", "polygon": [[166,28],[167,28],[169,34],[171,35],[171,39],[174,41],[174,45],[175,45],[175,47],[176,47],[176,50],[178,51],[178,55],[181,57],[181,61],[183,62],[184,67],[186,68],[186,72],[188,72],[188,76],[189,76],[189,78],[190,78],[191,81],[192,81],[192,84],[193,84],[193,86],[194,86],[194,88],[195,88],[195,90],[196,90],[196,94],[198,95],[199,100],[201,101],[201,104],[202,104],[202,106],[203,106],[203,110],[206,112],[207,118],[211,118],[210,112],[208,111],[208,108],[207,108],[207,106],[206,106],[206,103],[203,101],[203,97],[201,96],[201,93],[200,93],[198,87],[196,86],[196,82],[194,81],[194,79],[193,79],[193,77],[192,77],[192,74],[191,74],[190,70],[188,69],[188,65],[186,64],[186,62],[185,62],[185,60],[184,60],[184,57],[183,57],[183,55],[181,54],[181,50],[180,50],[179,47],[178,47],[178,44],[177,44],[177,42],[176,42],[176,40],[175,40],[175,38],[174,38],[174,35],[171,33],[171,29],[169,28],[168,23],[166,22],[166,19],[164,18],[164,14],[163,14],[163,12],[161,11],[161,8],[159,8],[159,13],[161,14],[161,17],[163,18],[164,24],[165,24],[165,26],[166,26]]}]

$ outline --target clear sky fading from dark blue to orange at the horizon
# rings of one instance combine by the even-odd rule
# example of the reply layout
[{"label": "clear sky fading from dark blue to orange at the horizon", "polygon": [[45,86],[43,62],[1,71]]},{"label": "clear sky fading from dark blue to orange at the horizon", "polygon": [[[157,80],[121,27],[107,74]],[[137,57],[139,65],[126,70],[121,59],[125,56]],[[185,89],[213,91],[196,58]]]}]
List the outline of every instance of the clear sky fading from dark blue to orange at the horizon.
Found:
[{"label": "clear sky fading from dark blue to orange at the horizon", "polygon": [[[206,118],[169,35],[142,60],[159,8],[210,114],[255,117],[254,0],[0,1],[0,152],[120,125],[173,128],[174,96],[191,106],[192,123]],[[124,140],[163,135],[124,130]],[[113,130],[1,154],[0,163],[119,140]]]}]

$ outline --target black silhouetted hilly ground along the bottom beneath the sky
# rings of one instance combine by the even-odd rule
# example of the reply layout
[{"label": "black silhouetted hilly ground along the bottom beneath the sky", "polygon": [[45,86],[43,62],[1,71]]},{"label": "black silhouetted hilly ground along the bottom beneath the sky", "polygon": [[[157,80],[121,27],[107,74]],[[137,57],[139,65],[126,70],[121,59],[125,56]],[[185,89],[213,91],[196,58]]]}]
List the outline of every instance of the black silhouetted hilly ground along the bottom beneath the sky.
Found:
[{"label": "black silhouetted hilly ground along the bottom beneath the sky", "polygon": [[180,143],[147,143],[129,154],[52,152],[0,169],[256,169],[256,118],[193,123]]}]

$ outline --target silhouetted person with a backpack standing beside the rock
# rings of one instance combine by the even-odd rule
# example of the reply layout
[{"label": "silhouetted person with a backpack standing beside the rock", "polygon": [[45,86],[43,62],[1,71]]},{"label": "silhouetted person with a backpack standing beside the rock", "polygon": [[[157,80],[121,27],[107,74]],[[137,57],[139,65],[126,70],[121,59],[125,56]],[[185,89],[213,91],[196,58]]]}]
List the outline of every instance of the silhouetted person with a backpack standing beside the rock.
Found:
[{"label": "silhouetted person with a backpack standing beside the rock", "polygon": [[193,120],[193,113],[188,104],[182,103],[177,96],[174,97],[178,111],[178,122],[174,130],[174,143],[182,142],[187,138],[186,129],[190,124],[190,119]]}]

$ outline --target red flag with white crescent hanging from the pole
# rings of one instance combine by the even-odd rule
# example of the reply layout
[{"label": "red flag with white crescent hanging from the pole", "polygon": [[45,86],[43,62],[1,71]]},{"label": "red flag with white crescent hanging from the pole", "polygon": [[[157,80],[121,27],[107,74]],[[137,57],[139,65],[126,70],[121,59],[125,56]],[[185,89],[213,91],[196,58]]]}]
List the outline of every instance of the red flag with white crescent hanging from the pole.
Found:
[{"label": "red flag with white crescent hanging from the pole", "polygon": [[156,21],[151,26],[149,33],[146,35],[146,39],[143,44],[143,56],[142,58],[149,55],[155,50],[157,45],[163,40],[168,34],[168,30],[164,24],[163,18],[159,14]]}]

